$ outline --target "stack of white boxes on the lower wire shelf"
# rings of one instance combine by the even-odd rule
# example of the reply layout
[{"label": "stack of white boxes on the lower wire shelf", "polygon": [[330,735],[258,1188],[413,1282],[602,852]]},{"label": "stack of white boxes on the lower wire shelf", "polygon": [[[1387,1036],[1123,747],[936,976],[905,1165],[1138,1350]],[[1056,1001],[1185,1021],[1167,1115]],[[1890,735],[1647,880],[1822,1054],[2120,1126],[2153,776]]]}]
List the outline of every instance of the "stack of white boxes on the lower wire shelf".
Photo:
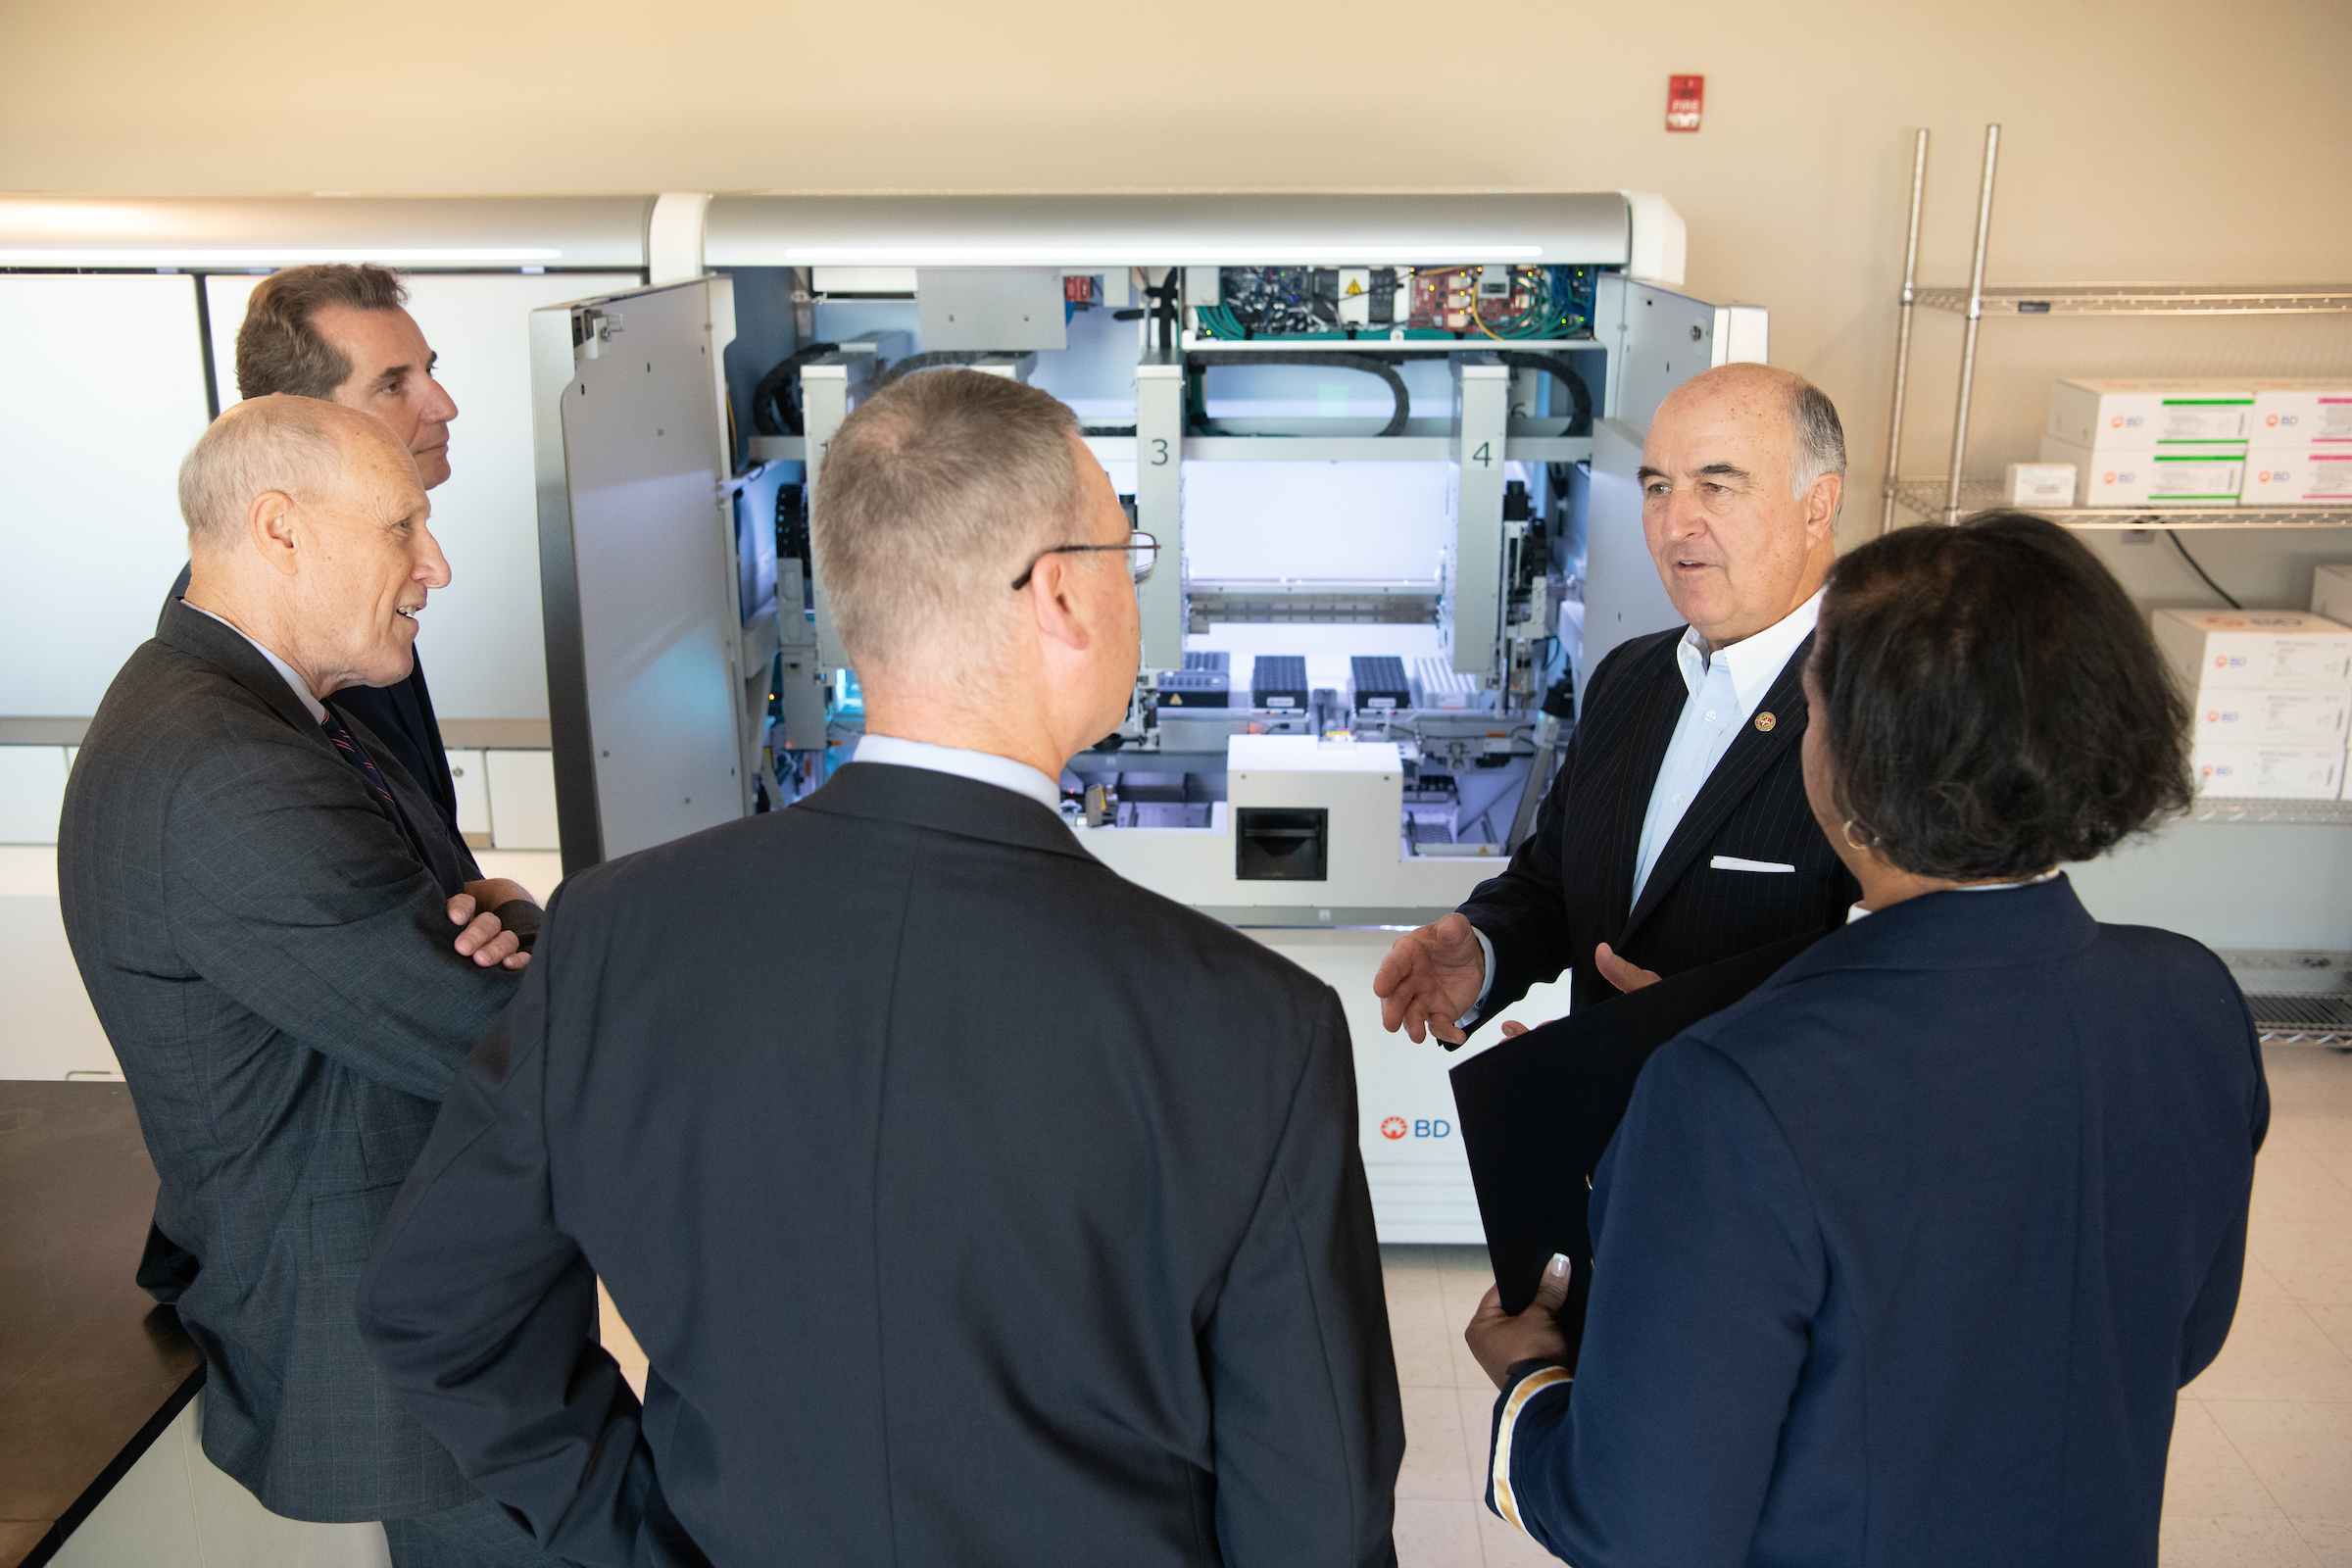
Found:
[{"label": "stack of white boxes on the lower wire shelf", "polygon": [[2343,795],[2352,628],[2303,611],[2159,609],[2154,630],[2194,693],[2199,795]]}]

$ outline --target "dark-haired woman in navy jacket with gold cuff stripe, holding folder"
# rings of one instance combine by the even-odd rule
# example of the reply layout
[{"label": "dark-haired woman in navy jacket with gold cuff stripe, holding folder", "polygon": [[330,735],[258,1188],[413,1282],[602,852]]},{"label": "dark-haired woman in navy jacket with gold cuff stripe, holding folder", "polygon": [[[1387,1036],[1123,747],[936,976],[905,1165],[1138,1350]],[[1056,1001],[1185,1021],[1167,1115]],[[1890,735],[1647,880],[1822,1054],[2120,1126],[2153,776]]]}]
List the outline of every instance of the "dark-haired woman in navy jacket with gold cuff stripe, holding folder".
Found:
[{"label": "dark-haired woman in navy jacket with gold cuff stripe, holding folder", "polygon": [[2018,512],[1842,559],[1806,693],[1856,919],[1642,1072],[1573,1378],[1566,1281],[1489,1293],[1489,1505],[1578,1568],[2154,1563],[2270,1100],[2220,959],[2056,867],[2187,804],[2187,708]]}]

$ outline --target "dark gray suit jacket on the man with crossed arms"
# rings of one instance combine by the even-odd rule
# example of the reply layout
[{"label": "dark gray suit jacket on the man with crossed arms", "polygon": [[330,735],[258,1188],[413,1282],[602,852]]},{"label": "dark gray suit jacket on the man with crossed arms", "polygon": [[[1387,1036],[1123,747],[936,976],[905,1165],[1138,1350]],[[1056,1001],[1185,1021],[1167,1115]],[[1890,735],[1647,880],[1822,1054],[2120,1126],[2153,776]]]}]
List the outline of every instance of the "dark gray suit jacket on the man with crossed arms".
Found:
[{"label": "dark gray suit jacket on the man with crossed arms", "polygon": [[393,1406],[353,1286],[452,1072],[515,994],[381,743],[386,809],[235,630],[172,604],[73,764],[56,879],[162,1190],[141,1284],[205,1349],[205,1453],[289,1519],[473,1497]]}]

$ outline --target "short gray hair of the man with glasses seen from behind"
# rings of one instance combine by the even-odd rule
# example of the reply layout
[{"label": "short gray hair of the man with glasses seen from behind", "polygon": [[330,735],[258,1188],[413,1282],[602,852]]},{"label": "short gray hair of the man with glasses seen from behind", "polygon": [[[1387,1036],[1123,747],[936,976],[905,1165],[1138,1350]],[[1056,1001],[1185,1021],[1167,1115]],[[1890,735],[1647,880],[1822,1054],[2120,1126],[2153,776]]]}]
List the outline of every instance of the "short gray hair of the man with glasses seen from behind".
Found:
[{"label": "short gray hair of the man with glasses seen from behind", "polygon": [[1009,628],[1025,557],[1073,543],[1087,510],[1073,435],[1049,393],[971,369],[903,376],[842,421],[809,545],[854,663]]}]

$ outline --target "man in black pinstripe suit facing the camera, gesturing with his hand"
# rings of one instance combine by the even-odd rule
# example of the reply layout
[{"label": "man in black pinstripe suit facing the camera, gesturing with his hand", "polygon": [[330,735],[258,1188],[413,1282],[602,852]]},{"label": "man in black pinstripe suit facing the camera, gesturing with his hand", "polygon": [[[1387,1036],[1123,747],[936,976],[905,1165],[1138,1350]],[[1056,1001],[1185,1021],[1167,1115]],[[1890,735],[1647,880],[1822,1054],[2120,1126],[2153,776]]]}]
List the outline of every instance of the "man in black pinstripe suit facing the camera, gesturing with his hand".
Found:
[{"label": "man in black pinstripe suit facing the camera, gesturing with his hand", "polygon": [[1844,473],[1837,409],[1790,371],[1724,364],[1658,407],[1642,531],[1689,625],[1592,670],[1536,832],[1381,964],[1390,1030],[1454,1048],[1562,969],[1588,1006],[1846,917],[1799,764]]}]

